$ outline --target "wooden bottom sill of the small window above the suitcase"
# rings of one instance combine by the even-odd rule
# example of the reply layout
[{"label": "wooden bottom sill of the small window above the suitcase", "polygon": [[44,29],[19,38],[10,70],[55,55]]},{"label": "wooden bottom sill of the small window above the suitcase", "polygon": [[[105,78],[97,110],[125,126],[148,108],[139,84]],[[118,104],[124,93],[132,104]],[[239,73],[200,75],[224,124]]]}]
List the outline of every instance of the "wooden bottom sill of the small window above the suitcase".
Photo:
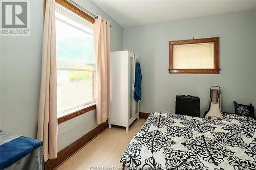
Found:
[{"label": "wooden bottom sill of the small window above the suitcase", "polygon": [[220,74],[220,69],[169,69],[172,74]]}]

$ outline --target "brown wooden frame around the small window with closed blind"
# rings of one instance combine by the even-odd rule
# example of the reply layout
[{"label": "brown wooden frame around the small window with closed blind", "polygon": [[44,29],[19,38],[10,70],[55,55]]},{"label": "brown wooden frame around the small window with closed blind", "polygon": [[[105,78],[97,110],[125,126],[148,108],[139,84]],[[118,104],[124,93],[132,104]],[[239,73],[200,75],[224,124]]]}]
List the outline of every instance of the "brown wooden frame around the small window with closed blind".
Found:
[{"label": "brown wooden frame around the small window with closed blind", "polygon": [[[169,74],[220,74],[220,43],[219,37],[188,39],[169,41]],[[175,69],[174,68],[174,45],[214,43],[214,68],[213,69]]]}]

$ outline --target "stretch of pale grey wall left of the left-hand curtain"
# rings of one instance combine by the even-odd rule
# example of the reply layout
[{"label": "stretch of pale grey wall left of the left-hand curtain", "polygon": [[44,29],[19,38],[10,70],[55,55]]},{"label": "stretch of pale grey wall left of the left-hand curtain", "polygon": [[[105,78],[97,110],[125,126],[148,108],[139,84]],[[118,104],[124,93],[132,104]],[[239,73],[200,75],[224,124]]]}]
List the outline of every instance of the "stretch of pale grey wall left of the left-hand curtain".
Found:
[{"label": "stretch of pale grey wall left of the left-hand curtain", "polygon": [[31,1],[30,36],[1,36],[1,130],[36,137],[43,2]]}]

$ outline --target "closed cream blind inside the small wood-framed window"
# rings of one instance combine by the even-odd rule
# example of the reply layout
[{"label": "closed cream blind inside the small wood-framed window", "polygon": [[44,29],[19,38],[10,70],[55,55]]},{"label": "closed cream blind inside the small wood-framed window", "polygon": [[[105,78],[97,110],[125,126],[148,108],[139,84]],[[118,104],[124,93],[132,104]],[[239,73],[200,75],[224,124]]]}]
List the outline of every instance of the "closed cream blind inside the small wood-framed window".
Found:
[{"label": "closed cream blind inside the small wood-framed window", "polygon": [[213,69],[214,43],[174,45],[174,69]]}]

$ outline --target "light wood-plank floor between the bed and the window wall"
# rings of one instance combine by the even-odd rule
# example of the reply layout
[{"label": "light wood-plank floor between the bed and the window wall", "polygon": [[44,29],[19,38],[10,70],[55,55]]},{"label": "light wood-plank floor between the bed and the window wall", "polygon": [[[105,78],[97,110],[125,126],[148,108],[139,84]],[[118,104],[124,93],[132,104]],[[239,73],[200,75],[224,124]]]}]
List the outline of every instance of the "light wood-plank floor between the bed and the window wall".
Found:
[{"label": "light wood-plank floor between the bed and the window wall", "polygon": [[118,126],[112,126],[112,128],[104,130],[66,162],[57,167],[57,170],[87,170],[103,166],[112,167],[112,169],[113,167],[120,167],[122,169],[119,159],[145,121],[146,119],[136,119],[129,127],[128,132],[125,131],[124,127]]}]

